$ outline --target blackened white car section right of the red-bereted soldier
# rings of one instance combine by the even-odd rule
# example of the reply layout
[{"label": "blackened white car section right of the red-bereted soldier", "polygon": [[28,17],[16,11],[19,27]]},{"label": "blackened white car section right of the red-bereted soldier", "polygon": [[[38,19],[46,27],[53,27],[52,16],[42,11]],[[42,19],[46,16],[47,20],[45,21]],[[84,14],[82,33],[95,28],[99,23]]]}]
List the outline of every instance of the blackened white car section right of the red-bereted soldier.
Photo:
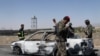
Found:
[{"label": "blackened white car section right of the red-bereted soldier", "polygon": [[[78,36],[77,36],[78,37]],[[93,43],[87,38],[69,38],[67,39],[67,53],[69,56],[96,56]]]}]

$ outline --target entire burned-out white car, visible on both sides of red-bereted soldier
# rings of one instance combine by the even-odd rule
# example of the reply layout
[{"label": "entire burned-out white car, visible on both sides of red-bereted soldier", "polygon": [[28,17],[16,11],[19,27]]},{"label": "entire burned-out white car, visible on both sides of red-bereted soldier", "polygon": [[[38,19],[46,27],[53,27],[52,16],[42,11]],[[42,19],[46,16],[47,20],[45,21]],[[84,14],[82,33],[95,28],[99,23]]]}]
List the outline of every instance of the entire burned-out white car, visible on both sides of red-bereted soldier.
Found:
[{"label": "entire burned-out white car, visible on both sides of red-bereted soldier", "polygon": [[[15,54],[36,54],[56,56],[56,35],[53,30],[37,31],[26,37],[25,40],[16,41],[11,44],[11,49]],[[76,36],[77,37],[77,36]],[[68,38],[66,43],[68,55],[91,55],[93,54],[92,45],[87,39]]]}]

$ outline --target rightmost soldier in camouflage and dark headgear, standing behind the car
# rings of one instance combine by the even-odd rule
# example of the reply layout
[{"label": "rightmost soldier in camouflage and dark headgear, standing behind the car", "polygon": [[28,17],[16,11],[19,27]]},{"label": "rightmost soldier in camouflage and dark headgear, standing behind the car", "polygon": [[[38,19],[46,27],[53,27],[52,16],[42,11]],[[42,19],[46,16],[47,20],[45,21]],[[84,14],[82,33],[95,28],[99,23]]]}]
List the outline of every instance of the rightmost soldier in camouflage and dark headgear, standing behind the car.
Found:
[{"label": "rightmost soldier in camouflage and dark headgear, standing behind the car", "polygon": [[[86,35],[86,38],[88,39],[89,44],[93,45],[93,39],[92,39],[93,27],[90,24],[89,20],[85,20],[85,24],[86,24],[86,28],[85,28],[84,33]],[[94,45],[92,47],[94,47]]]}]

